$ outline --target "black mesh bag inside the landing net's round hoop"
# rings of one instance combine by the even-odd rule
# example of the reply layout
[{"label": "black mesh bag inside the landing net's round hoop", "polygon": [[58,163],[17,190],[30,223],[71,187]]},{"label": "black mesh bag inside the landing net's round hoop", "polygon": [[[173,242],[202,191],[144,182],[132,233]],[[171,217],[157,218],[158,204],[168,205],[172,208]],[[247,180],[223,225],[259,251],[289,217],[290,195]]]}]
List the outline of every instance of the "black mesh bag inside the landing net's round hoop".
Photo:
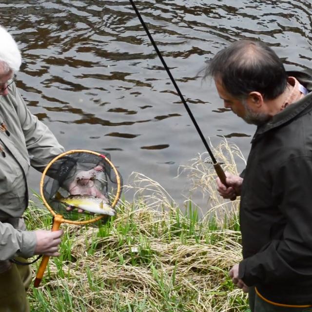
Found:
[{"label": "black mesh bag inside the landing net's round hoop", "polygon": [[[109,154],[99,154],[110,160]],[[105,207],[111,206],[118,194],[118,186],[119,191],[122,187],[121,176],[118,172],[116,174],[115,170],[102,156],[79,151],[67,154],[56,160],[46,172],[43,184],[44,198],[50,207],[65,219],[92,219],[95,214],[102,213],[90,212],[88,209],[81,211],[78,200],[74,204],[68,204],[68,201],[77,198],[93,200],[95,206],[98,206],[100,198]],[[109,214],[103,211],[103,215]]]}]

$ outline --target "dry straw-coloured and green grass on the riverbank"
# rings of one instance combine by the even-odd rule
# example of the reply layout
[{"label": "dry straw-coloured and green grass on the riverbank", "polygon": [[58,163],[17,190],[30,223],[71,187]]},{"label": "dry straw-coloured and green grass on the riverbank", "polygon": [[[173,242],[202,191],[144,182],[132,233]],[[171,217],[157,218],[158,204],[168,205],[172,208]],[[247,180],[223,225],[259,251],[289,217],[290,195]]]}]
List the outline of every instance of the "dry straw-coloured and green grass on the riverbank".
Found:
[{"label": "dry straw-coloured and green grass on the riverbank", "polygon": [[[222,149],[233,158],[221,159]],[[224,142],[217,151],[235,173],[237,148]],[[201,215],[191,200],[178,207],[157,182],[133,173],[127,188],[134,200],[122,200],[117,216],[92,227],[62,225],[61,255],[50,259],[41,286],[29,290],[32,311],[246,311],[246,294],[228,276],[241,260],[238,200],[219,199],[206,155],[183,170],[212,209]],[[26,217],[31,229],[51,226],[41,209],[29,207]]]}]

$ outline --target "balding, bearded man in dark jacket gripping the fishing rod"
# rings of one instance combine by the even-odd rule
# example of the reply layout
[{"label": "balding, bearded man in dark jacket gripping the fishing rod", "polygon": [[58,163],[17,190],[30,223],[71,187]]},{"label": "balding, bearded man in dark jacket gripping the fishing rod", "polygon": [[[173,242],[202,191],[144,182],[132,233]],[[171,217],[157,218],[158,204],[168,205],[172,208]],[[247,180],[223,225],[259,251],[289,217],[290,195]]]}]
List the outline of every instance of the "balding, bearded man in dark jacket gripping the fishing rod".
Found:
[{"label": "balding, bearded man in dark jacket gripping the fishing rod", "polygon": [[217,179],[221,196],[241,196],[243,260],[230,276],[254,312],[312,311],[312,73],[286,72],[266,44],[240,40],[205,76],[257,125],[243,175]]}]

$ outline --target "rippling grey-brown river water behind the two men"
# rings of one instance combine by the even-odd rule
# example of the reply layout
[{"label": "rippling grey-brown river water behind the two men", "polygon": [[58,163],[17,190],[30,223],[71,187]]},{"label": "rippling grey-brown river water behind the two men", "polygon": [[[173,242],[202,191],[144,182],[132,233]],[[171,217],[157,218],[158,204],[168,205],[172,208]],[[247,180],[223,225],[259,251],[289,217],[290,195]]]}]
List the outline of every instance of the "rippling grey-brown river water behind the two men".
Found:
[{"label": "rippling grey-brown river water behind the two men", "polygon": [[[236,39],[267,42],[287,69],[312,67],[311,1],[136,4],[204,136],[225,136],[247,157],[254,126],[224,110],[197,74]],[[140,172],[182,202],[188,180],[177,169],[205,148],[130,2],[10,0],[0,16],[22,52],[20,93],[65,149],[108,152],[125,183]],[[31,172],[31,188],[39,178]]]}]

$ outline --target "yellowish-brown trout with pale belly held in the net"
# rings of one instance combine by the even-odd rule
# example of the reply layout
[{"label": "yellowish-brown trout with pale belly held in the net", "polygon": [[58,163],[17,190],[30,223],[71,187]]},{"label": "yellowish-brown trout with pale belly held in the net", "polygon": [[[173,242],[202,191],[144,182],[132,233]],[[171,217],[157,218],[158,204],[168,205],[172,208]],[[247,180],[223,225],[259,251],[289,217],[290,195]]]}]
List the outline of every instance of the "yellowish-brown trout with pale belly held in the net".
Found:
[{"label": "yellowish-brown trout with pale belly held in the net", "polygon": [[59,197],[60,196],[56,196],[57,200],[67,206],[76,207],[98,215],[116,215],[115,209],[99,197],[91,195]]}]

